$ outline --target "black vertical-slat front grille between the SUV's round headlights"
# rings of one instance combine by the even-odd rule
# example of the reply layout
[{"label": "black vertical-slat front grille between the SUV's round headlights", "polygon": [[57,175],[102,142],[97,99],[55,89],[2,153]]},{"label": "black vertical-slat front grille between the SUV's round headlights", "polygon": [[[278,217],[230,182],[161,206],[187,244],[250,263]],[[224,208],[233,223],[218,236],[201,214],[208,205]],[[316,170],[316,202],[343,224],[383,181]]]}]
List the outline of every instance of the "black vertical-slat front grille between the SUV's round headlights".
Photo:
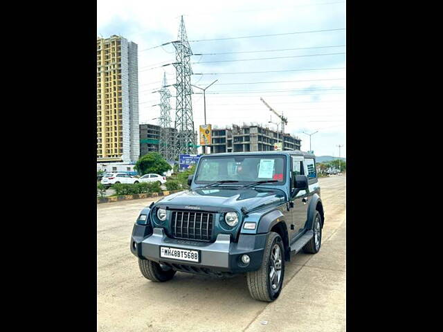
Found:
[{"label": "black vertical-slat front grille between the SUV's round headlights", "polygon": [[172,211],[172,237],[176,239],[210,241],[214,214],[194,211]]}]

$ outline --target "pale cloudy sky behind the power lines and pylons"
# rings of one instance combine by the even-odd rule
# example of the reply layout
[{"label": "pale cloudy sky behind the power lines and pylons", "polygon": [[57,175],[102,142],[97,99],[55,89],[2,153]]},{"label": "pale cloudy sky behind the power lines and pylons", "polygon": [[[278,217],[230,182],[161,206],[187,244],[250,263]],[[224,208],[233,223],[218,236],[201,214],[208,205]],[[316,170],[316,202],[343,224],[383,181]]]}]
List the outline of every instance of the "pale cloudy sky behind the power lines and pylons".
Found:
[{"label": "pale cloudy sky behind the power lines and pylons", "polygon": [[[97,35],[138,44],[140,122],[157,124],[163,73],[175,83],[174,46],[181,15],[193,54],[192,84],[206,87],[213,127],[280,122],[260,101],[288,118],[285,132],[317,156],[346,154],[345,1],[97,1]],[[251,37],[263,36],[264,37]],[[242,38],[239,38],[242,37]],[[246,37],[246,38],[243,38]],[[225,39],[226,38],[226,39]],[[221,39],[221,40],[201,40]],[[221,54],[222,53],[222,54]],[[272,59],[264,59],[272,58]],[[264,72],[267,73],[251,73]],[[246,72],[246,73],[245,73]],[[204,75],[198,75],[204,74]],[[175,96],[174,87],[170,87]],[[195,130],[204,124],[203,95],[193,88]],[[171,100],[172,126],[175,98]],[[280,126],[279,129],[281,130]]]}]

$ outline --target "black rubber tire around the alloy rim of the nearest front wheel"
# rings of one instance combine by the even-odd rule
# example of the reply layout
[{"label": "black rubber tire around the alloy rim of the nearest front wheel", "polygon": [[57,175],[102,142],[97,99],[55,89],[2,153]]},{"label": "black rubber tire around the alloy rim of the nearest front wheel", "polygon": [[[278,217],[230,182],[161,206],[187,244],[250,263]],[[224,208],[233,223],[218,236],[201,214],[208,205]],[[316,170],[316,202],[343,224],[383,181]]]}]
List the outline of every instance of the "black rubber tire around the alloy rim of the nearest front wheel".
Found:
[{"label": "black rubber tire around the alloy rim of the nearest front wheel", "polygon": [[[272,291],[271,282],[269,281],[269,256],[271,255],[271,249],[275,243],[279,244],[282,252],[282,275],[280,279],[280,287],[277,292]],[[277,299],[278,295],[280,295],[284,279],[284,246],[282,238],[278,233],[269,232],[266,246],[264,247],[262,266],[257,271],[248,272],[246,279],[248,282],[249,293],[251,293],[251,297],[254,299],[264,302],[273,302]]]}]

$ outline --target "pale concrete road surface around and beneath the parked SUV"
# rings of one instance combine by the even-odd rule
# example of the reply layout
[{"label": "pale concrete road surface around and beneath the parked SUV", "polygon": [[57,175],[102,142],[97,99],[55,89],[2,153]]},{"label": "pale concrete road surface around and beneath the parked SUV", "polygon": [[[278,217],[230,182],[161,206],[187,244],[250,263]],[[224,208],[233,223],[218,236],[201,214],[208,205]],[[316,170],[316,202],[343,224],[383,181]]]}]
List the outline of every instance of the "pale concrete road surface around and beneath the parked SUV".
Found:
[{"label": "pale concrete road surface around and beneath the parked SUV", "polygon": [[138,212],[152,200],[97,205],[98,331],[345,331],[346,176],[320,178],[320,185],[326,218],[320,252],[293,256],[272,303],[252,299],[244,275],[177,273],[170,282],[150,282],[129,239]]}]

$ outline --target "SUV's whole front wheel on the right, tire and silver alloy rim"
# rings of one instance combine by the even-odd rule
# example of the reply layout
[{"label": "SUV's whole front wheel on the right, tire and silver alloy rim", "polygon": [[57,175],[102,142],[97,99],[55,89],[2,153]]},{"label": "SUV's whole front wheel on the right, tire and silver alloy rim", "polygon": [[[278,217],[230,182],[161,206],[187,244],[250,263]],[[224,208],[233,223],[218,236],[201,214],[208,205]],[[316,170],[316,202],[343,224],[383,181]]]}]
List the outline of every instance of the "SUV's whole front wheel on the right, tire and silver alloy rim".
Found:
[{"label": "SUV's whole front wheel on the right, tire and silver alloy rim", "polygon": [[284,247],[282,238],[270,232],[264,247],[260,270],[248,272],[249,293],[254,299],[273,302],[282,291],[284,278]]}]

